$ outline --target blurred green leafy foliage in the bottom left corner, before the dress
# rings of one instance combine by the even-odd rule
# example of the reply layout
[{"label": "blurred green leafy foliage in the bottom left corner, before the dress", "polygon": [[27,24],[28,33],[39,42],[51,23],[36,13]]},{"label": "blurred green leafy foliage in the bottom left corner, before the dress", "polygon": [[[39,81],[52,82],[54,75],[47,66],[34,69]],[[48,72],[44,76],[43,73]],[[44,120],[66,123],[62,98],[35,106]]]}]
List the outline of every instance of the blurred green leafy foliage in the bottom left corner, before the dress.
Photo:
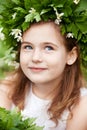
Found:
[{"label": "blurred green leafy foliage in the bottom left corner, before the dress", "polygon": [[23,115],[16,110],[8,111],[0,108],[0,130],[42,130],[37,126],[35,118],[23,119]]}]

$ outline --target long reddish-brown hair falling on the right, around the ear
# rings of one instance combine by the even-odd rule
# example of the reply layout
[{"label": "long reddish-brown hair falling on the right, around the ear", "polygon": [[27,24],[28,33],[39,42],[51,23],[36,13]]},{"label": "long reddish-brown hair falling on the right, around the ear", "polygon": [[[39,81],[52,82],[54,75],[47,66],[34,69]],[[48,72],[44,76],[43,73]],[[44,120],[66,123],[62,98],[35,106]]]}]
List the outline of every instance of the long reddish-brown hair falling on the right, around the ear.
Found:
[{"label": "long reddish-brown hair falling on the right, around the ear", "polygon": [[77,48],[77,59],[74,64],[66,65],[65,70],[60,81],[60,87],[56,89],[56,95],[49,108],[49,112],[52,112],[52,119],[58,123],[58,118],[65,109],[71,113],[72,106],[76,105],[80,99],[80,88],[83,87],[84,80],[80,68],[80,51],[75,39],[65,39],[65,47],[68,51],[71,51],[73,47]]}]

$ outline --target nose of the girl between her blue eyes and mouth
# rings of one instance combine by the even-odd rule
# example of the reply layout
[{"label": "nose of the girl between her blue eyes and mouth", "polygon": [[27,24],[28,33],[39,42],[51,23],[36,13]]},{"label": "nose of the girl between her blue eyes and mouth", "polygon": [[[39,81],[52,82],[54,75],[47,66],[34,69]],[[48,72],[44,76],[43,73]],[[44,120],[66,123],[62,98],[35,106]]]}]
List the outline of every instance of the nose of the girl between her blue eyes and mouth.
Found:
[{"label": "nose of the girl between her blue eyes and mouth", "polygon": [[32,61],[33,62],[41,62],[42,61],[42,54],[41,51],[36,49],[34,50],[33,54],[32,54]]}]

